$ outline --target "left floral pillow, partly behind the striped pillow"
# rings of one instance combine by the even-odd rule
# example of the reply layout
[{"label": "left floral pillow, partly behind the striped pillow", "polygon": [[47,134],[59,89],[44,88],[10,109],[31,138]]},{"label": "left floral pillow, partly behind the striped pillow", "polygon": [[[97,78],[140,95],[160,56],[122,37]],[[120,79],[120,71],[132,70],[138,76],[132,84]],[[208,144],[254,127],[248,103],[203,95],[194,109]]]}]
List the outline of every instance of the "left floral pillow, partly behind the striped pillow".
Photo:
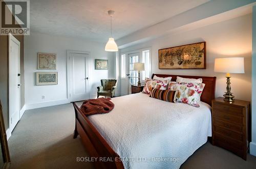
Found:
[{"label": "left floral pillow, partly behind the striped pillow", "polygon": [[145,86],[142,90],[142,93],[150,94],[153,88],[165,90],[167,88],[168,82],[169,82],[168,80],[160,81],[160,80],[146,79]]}]

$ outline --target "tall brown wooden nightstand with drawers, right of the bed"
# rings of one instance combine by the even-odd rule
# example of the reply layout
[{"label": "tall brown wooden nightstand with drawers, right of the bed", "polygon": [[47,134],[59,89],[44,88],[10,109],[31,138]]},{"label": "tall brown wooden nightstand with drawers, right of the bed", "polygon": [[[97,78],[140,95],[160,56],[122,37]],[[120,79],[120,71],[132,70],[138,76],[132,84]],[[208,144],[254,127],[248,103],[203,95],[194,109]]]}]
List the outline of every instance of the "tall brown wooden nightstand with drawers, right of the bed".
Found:
[{"label": "tall brown wooden nightstand with drawers, right of the bed", "polygon": [[212,144],[246,160],[250,139],[250,102],[212,100]]}]

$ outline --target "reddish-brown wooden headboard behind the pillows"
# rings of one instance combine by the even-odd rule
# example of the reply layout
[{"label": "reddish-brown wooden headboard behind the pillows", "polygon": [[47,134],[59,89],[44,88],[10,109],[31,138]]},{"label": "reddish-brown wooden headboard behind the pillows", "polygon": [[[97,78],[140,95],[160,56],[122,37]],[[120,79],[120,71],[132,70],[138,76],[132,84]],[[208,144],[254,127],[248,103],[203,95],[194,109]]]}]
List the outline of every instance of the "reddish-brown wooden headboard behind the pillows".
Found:
[{"label": "reddish-brown wooden headboard behind the pillows", "polygon": [[211,106],[211,100],[215,99],[216,77],[153,74],[152,79],[155,75],[161,78],[172,77],[172,81],[176,81],[177,76],[182,78],[192,78],[192,79],[202,78],[205,86],[201,95],[201,101]]}]

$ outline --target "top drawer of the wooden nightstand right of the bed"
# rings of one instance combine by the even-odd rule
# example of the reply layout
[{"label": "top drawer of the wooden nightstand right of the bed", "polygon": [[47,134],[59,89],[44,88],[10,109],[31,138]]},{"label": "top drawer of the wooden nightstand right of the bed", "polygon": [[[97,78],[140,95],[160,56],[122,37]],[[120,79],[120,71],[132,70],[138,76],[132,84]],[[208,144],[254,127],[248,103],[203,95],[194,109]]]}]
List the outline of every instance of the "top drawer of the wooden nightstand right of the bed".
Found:
[{"label": "top drawer of the wooden nightstand right of the bed", "polygon": [[220,103],[214,103],[212,105],[212,107],[214,109],[218,109],[218,110],[224,111],[226,113],[243,116],[243,109],[239,108],[239,107],[228,106],[228,105],[224,105],[224,104],[220,104]]}]

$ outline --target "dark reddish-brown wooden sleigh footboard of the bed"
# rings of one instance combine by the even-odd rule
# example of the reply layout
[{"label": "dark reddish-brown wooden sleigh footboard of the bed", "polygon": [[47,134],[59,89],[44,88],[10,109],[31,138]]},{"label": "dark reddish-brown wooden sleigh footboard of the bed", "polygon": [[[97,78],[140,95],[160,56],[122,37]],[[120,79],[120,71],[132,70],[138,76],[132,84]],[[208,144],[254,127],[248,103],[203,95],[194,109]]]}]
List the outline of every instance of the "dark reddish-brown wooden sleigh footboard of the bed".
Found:
[{"label": "dark reddish-brown wooden sleigh footboard of the bed", "polygon": [[119,155],[109,146],[75,102],[73,106],[76,117],[74,138],[79,135],[90,156],[97,158],[94,162],[95,168],[123,169]]}]

